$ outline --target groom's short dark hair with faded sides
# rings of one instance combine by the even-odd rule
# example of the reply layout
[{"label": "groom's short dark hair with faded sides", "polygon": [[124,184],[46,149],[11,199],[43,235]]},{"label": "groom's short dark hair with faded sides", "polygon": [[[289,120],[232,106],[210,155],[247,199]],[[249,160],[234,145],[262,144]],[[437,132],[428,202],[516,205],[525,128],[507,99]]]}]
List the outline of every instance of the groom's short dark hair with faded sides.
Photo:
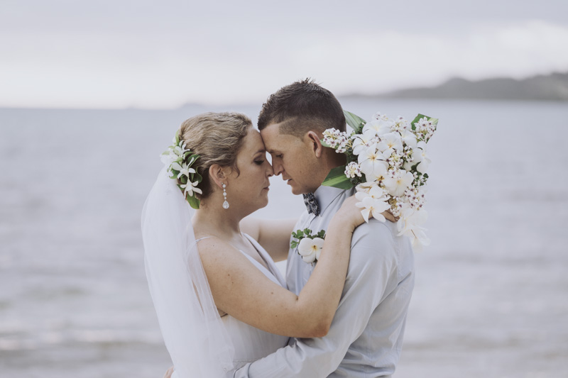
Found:
[{"label": "groom's short dark hair with faded sides", "polygon": [[303,138],[310,130],[327,128],[345,131],[345,116],[332,92],[307,78],[278,89],[263,104],[258,130],[280,123],[279,132]]}]

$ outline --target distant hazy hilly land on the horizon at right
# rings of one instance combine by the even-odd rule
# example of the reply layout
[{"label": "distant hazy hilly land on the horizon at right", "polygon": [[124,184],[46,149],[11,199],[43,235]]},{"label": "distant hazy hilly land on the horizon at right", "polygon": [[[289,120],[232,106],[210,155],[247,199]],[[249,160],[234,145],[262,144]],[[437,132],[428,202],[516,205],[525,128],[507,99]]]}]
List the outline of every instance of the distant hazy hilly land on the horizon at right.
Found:
[{"label": "distant hazy hilly land on the horizon at right", "polygon": [[568,101],[568,72],[538,75],[528,79],[510,78],[469,81],[449,79],[438,87],[400,89],[383,94],[349,94],[344,99],[500,99]]}]

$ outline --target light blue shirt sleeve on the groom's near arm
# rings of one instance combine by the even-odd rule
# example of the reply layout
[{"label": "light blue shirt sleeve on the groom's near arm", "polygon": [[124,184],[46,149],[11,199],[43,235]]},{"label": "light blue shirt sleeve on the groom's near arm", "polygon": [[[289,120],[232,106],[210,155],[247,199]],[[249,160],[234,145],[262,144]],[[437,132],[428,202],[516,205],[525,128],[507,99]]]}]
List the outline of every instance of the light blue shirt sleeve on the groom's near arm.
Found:
[{"label": "light blue shirt sleeve on the groom's near arm", "polygon": [[329,333],[302,338],[234,372],[234,377],[327,377],[365,330],[381,299],[398,284],[397,251],[391,230],[371,219],[356,228],[342,299]]}]

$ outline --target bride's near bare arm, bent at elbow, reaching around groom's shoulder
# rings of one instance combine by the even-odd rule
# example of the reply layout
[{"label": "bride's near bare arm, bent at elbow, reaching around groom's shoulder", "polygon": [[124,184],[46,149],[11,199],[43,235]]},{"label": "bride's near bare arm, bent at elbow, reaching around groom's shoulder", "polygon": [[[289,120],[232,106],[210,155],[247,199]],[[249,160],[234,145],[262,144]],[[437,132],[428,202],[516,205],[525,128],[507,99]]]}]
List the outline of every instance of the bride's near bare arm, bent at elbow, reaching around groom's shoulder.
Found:
[{"label": "bride's near bare arm, bent at elbow, reaching around groom's shoulder", "polygon": [[351,236],[363,223],[355,202],[354,197],[347,199],[329,223],[320,260],[297,296],[268,279],[231,245],[217,238],[202,240],[200,256],[217,308],[278,335],[326,335],[341,299]]}]

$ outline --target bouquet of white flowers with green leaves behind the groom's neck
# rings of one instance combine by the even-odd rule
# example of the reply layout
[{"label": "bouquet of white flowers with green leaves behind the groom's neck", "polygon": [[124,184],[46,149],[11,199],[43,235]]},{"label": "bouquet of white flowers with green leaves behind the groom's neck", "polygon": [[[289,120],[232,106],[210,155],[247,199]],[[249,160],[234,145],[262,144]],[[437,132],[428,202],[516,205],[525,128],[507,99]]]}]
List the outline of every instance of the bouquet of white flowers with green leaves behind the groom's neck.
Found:
[{"label": "bouquet of white flowers with green leaves behind the groom's neck", "polygon": [[426,143],[436,130],[437,118],[418,114],[409,123],[400,116],[393,120],[376,113],[367,122],[349,111],[344,114],[353,132],[329,128],[322,145],[344,153],[347,163],[332,169],[323,185],[356,187],[356,206],[366,222],[369,217],[386,221],[381,213],[390,209],[399,218],[398,235],[409,236],[414,248],[430,244],[422,227],[430,163]]}]

